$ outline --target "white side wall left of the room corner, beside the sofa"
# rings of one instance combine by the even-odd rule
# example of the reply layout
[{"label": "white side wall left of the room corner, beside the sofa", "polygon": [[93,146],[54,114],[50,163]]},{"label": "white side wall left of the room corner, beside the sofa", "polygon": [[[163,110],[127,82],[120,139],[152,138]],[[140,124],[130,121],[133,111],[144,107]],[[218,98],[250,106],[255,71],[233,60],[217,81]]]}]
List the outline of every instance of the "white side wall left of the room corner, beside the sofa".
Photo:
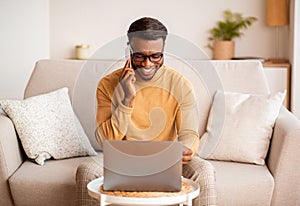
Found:
[{"label": "white side wall left of the room corner, beside the sofa", "polygon": [[34,63],[49,58],[48,0],[0,1],[0,99],[23,98]]}]

